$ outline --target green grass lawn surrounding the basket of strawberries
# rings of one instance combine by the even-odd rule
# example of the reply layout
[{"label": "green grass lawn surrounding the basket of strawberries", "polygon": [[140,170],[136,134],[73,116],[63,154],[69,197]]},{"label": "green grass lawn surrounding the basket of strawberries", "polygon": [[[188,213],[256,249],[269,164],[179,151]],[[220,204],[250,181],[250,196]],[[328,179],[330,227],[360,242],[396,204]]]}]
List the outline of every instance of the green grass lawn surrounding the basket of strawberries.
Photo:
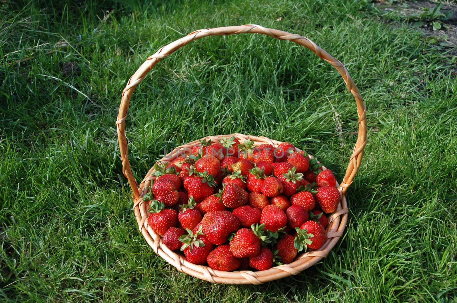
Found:
[{"label": "green grass lawn surrounding the basket of strawberries", "polygon": [[[456,57],[359,1],[53,2],[0,3],[0,301],[457,301]],[[327,258],[260,286],[213,285],[139,234],[114,122],[128,78],[160,46],[249,23],[308,36],[346,65],[368,144]],[[62,72],[69,62],[79,71]],[[341,180],[356,121],[342,78],[312,52],[208,37],[133,93],[129,159],[141,180],[164,148],[239,132],[305,148]]]}]

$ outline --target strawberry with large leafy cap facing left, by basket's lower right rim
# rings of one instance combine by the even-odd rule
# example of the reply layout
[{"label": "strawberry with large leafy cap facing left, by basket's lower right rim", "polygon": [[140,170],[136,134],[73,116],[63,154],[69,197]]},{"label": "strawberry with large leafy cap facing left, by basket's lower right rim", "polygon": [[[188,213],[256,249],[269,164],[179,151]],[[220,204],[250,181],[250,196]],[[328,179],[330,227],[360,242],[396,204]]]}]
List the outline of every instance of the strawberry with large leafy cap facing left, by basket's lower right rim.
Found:
[{"label": "strawberry with large leafy cap facing left, by basket's lower right rim", "polygon": [[[319,249],[327,242],[327,234],[324,227],[316,221],[310,220],[295,228],[297,236],[295,237],[294,246],[298,252],[307,248]],[[306,244],[306,245],[305,245]]]}]

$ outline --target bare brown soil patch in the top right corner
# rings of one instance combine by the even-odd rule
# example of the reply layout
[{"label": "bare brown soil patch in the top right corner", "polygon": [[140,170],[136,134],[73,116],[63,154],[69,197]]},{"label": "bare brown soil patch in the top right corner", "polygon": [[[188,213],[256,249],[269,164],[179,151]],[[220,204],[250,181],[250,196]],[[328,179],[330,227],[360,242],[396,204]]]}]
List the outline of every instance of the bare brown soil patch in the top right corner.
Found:
[{"label": "bare brown soil patch in the top right corner", "polygon": [[[381,2],[380,5],[383,5]],[[393,5],[385,8],[386,10],[397,10],[399,15],[404,15],[405,17],[420,15],[424,12],[425,8],[428,8],[431,12],[436,6],[436,2],[430,1],[404,1],[402,3],[394,3]],[[444,1],[441,6],[441,12],[451,11],[452,16],[446,21],[441,21],[443,24],[449,26],[449,29],[446,29],[444,26],[440,30],[433,31],[433,26],[431,24],[425,24],[423,27],[420,27],[425,36],[435,36],[437,41],[447,42],[448,48],[457,47],[457,3],[451,1]],[[457,56],[457,49],[454,49],[450,52],[451,55]]]}]

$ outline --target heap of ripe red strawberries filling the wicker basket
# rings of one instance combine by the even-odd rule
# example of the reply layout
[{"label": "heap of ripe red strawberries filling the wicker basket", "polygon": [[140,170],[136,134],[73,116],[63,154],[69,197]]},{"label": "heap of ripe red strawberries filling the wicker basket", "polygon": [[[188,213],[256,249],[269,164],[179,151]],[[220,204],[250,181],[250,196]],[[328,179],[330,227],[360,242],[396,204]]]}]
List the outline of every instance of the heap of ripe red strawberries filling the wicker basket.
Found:
[{"label": "heap of ripe red strawberries filling the wicker basket", "polygon": [[327,241],[340,202],[331,170],[290,143],[201,140],[191,155],[156,164],[143,200],[148,225],[187,261],[215,270],[266,270]]}]

